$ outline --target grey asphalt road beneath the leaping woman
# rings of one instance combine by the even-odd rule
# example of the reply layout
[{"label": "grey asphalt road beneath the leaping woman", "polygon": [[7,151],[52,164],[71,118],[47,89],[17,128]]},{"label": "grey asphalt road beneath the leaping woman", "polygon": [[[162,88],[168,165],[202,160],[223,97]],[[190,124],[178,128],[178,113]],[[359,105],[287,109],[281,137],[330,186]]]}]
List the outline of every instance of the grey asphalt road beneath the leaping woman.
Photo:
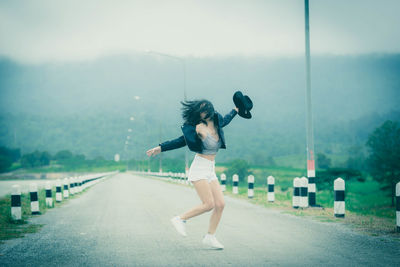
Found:
[{"label": "grey asphalt road beneath the leaping woman", "polygon": [[38,233],[0,245],[1,266],[400,266],[400,242],[281,214],[226,197],[217,230],[224,250],[203,247],[210,213],[170,223],[199,203],[193,188],[118,174],[31,221]]}]

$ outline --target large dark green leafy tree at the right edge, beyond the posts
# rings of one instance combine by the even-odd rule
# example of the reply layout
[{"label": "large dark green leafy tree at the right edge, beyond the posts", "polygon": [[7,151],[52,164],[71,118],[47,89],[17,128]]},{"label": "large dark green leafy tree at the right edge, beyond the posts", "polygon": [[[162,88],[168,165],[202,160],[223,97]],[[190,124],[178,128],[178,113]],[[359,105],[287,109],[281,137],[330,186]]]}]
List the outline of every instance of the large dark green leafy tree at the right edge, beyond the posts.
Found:
[{"label": "large dark green leafy tree at the right edge, beyond the posts", "polygon": [[385,121],[369,135],[368,168],[382,190],[391,190],[394,206],[396,182],[400,179],[400,128],[397,122]]}]

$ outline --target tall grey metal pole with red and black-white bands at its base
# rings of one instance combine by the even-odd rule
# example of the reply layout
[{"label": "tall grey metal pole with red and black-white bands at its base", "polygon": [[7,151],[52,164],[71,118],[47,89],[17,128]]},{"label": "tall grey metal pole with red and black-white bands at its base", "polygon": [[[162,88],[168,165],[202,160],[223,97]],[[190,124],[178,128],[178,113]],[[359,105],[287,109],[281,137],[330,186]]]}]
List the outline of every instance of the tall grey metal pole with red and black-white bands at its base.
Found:
[{"label": "tall grey metal pole with red and black-white bands at its base", "polygon": [[306,46],[306,124],[307,124],[307,176],[308,176],[308,201],[310,206],[316,205],[315,187],[315,153],[314,153],[314,133],[311,105],[311,60],[310,60],[310,23],[308,0],[304,0],[305,7],[305,46]]}]

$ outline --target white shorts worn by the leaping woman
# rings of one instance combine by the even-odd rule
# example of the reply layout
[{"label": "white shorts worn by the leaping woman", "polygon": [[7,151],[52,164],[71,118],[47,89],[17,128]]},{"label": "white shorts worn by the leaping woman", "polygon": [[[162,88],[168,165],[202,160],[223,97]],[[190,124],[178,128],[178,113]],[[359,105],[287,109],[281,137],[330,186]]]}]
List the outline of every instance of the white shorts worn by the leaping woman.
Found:
[{"label": "white shorts worn by the leaping woman", "polygon": [[188,180],[193,182],[202,179],[208,180],[209,183],[213,180],[218,180],[215,174],[215,161],[196,154],[190,165]]}]

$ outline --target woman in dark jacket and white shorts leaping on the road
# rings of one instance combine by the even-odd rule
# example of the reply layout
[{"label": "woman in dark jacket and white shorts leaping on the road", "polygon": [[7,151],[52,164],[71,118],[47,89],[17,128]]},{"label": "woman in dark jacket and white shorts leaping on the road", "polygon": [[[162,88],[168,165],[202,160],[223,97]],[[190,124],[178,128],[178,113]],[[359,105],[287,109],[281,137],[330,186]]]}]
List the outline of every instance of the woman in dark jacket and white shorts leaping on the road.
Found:
[{"label": "woman in dark jacket and white shorts leaping on the road", "polygon": [[201,204],[185,213],[171,219],[175,229],[182,236],[186,236],[185,223],[188,219],[207,211],[213,210],[208,227],[208,233],[203,238],[203,244],[213,248],[223,249],[218,242],[215,232],[224,210],[225,201],[218,178],[215,174],[215,156],[219,148],[225,149],[225,137],[222,130],[238,113],[235,107],[230,113],[222,117],[214,110],[210,101],[195,100],[181,102],[184,124],[181,127],[183,135],[171,141],[161,143],[149,149],[148,156],[160,152],[176,149],[187,145],[196,152],[190,166],[188,180],[193,183]]}]

